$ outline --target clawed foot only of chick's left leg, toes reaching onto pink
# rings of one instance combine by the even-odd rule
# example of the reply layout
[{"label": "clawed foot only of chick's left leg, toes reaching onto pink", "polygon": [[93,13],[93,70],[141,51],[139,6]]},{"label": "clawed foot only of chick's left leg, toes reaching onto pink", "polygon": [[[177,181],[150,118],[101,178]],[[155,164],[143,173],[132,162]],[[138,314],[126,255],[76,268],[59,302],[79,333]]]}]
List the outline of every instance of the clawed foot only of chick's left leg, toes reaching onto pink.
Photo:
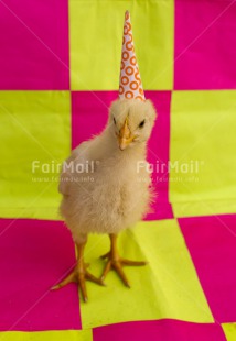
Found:
[{"label": "clawed foot only of chick's left leg, toes reaching onto pink", "polygon": [[79,267],[76,265],[74,270],[57,285],[53,286],[51,290],[56,290],[69,283],[78,283],[78,286],[82,292],[82,297],[84,301],[86,302],[88,300],[87,290],[86,290],[86,279],[94,282],[99,285],[105,285],[103,279],[96,278],[94,275],[92,275],[89,272],[87,272],[88,264],[83,264],[83,267]]}]

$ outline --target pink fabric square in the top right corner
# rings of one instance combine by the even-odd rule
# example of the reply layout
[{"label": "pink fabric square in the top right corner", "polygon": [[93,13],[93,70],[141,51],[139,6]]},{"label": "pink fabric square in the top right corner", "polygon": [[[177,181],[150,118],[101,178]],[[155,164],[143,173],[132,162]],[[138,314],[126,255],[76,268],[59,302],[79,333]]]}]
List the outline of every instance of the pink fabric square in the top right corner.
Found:
[{"label": "pink fabric square in the top right corner", "polygon": [[174,89],[236,88],[236,2],[175,0]]}]

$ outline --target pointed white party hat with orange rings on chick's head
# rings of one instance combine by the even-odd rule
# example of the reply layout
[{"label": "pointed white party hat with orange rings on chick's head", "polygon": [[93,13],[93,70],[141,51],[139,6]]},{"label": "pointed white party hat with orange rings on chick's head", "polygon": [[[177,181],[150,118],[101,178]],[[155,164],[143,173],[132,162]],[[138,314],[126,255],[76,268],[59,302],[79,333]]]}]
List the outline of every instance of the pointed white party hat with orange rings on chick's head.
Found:
[{"label": "pointed white party hat with orange rings on chick's head", "polygon": [[126,11],[122,36],[122,53],[119,79],[119,98],[146,100],[136,58],[130,14]]}]

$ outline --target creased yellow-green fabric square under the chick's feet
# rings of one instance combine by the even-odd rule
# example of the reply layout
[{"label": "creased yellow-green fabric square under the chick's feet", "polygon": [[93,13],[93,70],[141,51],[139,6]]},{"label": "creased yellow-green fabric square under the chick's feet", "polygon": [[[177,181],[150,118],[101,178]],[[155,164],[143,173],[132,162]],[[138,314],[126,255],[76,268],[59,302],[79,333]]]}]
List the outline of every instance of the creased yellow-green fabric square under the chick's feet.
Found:
[{"label": "creased yellow-green fabric square under the chick's feet", "polygon": [[[89,301],[81,304],[83,329],[163,318],[213,322],[175,220],[140,222],[133,231],[127,230],[119,238],[122,256],[130,260],[147,257],[149,265],[125,267],[131,289],[125,287],[114,272],[108,274],[106,287],[88,282]],[[108,248],[107,235],[89,235],[85,261],[90,263],[89,270],[97,276],[105,265],[99,255]]]}]

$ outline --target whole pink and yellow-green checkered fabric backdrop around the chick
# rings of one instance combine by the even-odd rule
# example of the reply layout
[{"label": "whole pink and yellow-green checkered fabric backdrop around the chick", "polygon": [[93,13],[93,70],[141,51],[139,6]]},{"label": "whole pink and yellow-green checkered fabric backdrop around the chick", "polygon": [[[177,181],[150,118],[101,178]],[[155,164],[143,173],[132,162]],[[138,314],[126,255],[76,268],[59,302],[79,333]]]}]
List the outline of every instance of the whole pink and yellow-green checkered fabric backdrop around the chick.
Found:
[{"label": "whole pink and yellow-green checkered fabric backdrop around the chick", "polygon": [[[235,2],[0,0],[0,339],[236,340]],[[56,165],[101,131],[126,10],[159,113],[148,148],[159,197],[120,237],[149,265],[126,270],[130,290],[114,273],[88,283],[84,304],[75,284],[50,290],[75,252],[57,173],[32,163]],[[96,275],[107,248],[89,238]]]}]

